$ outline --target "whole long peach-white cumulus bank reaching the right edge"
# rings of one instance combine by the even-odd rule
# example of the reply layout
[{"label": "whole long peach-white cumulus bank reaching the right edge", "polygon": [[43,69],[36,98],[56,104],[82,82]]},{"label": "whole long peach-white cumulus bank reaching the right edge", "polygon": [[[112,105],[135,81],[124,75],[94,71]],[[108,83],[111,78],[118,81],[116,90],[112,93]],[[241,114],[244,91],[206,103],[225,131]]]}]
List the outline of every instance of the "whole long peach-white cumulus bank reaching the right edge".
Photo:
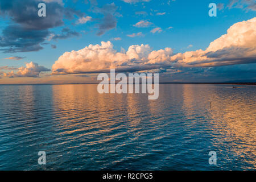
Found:
[{"label": "whole long peach-white cumulus bank reaching the right edge", "polygon": [[[132,34],[131,37],[136,36]],[[256,18],[233,24],[227,34],[210,43],[203,51],[172,52],[171,48],[152,51],[149,45],[130,46],[128,51],[113,49],[111,42],[101,42],[79,51],[65,52],[52,65],[53,74],[142,71],[158,68],[218,67],[256,63]]]}]

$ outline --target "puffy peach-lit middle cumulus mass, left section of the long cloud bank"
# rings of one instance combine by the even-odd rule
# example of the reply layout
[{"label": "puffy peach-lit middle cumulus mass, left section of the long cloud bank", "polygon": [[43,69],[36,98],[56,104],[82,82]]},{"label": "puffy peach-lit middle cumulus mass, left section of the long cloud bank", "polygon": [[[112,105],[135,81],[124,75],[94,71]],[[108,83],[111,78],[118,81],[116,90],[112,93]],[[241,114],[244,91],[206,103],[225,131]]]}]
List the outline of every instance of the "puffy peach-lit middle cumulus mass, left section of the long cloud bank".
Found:
[{"label": "puffy peach-lit middle cumulus mass, left section of the long cloud bank", "polygon": [[96,73],[110,68],[120,71],[155,69],[168,64],[171,48],[152,51],[147,44],[130,46],[128,51],[117,52],[111,42],[101,42],[79,51],[65,52],[52,65],[53,74]]}]

